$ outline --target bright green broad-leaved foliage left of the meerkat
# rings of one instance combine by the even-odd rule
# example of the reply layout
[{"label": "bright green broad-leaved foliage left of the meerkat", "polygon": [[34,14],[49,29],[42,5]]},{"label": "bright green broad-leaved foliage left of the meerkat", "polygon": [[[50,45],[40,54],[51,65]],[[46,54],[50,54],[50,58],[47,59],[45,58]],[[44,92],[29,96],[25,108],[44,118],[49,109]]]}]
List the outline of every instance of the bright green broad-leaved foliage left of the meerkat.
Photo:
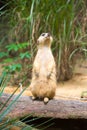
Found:
[{"label": "bright green broad-leaved foliage left of the meerkat", "polygon": [[[6,55],[5,52],[1,53],[1,56],[4,58],[3,62],[4,63],[11,63],[10,65],[7,65],[4,67],[4,71],[9,72],[9,73],[15,73],[20,72],[22,69],[22,64],[21,63],[17,63],[17,61],[23,60],[23,59],[30,59],[31,58],[31,54],[29,53],[29,51],[26,52],[21,52],[22,50],[26,49],[29,46],[28,42],[25,43],[12,43],[6,46],[7,52],[18,52],[19,55],[17,55],[16,57],[12,57],[9,58],[9,54]],[[7,57],[4,57],[7,56]]]}]

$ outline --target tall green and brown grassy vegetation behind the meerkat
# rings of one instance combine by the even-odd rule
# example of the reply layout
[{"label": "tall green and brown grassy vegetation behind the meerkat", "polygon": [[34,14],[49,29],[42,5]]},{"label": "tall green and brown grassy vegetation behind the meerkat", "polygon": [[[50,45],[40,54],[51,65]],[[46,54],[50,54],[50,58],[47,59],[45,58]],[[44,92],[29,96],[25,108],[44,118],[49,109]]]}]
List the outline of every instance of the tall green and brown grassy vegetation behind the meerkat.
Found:
[{"label": "tall green and brown grassy vegetation behind the meerkat", "polygon": [[14,84],[29,83],[37,38],[50,32],[57,80],[70,79],[78,54],[87,56],[86,23],[86,0],[0,0],[3,70],[13,74]]}]

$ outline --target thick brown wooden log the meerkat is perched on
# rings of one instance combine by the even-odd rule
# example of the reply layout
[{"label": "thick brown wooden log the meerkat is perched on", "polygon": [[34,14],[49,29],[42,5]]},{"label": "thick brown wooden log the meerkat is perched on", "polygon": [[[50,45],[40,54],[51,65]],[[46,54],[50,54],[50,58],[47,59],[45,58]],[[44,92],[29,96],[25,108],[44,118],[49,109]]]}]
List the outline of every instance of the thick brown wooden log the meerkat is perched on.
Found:
[{"label": "thick brown wooden log the meerkat is perched on", "polygon": [[[9,96],[9,94],[3,94],[2,97],[0,97],[0,101],[5,103]],[[16,96],[17,95],[14,95],[9,103],[14,100]],[[6,105],[5,108],[7,106],[8,105]],[[87,102],[69,99],[53,99],[47,104],[44,104],[43,101],[32,101],[28,96],[21,96],[7,116],[11,118],[22,118],[29,114],[38,117],[60,119],[87,119]]]}]

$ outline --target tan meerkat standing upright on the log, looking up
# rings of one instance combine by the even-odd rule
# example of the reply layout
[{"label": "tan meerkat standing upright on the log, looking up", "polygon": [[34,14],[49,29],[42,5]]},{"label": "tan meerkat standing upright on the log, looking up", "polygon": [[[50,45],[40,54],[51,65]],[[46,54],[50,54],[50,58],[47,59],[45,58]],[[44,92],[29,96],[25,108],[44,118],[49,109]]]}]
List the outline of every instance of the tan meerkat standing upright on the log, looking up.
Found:
[{"label": "tan meerkat standing upright on the log, looking up", "polygon": [[55,96],[56,65],[51,51],[52,36],[42,33],[37,40],[38,51],[33,63],[30,90],[32,99],[41,98],[44,103]]}]

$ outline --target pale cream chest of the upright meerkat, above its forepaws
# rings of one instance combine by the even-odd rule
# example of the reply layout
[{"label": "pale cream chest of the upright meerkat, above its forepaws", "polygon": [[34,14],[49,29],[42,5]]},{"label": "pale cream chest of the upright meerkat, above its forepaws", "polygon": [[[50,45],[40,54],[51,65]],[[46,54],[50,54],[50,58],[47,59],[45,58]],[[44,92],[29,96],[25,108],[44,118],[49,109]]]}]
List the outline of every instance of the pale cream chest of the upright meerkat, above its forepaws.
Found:
[{"label": "pale cream chest of the upright meerkat, above its forepaws", "polygon": [[49,68],[54,64],[54,58],[50,48],[39,49],[34,61],[34,67],[40,75],[46,75]]}]

